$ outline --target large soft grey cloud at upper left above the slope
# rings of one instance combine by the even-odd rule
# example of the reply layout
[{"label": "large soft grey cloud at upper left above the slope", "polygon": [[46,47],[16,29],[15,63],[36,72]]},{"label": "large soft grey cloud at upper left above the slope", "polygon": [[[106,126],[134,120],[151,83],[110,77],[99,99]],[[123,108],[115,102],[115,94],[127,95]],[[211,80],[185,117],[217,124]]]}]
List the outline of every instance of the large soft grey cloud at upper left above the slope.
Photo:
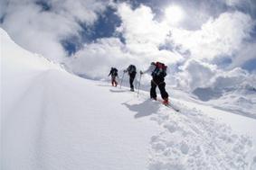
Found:
[{"label": "large soft grey cloud at upper left above the slope", "polygon": [[[78,35],[80,22],[92,24],[106,3],[93,0],[4,0],[1,1],[1,27],[22,47],[62,61],[67,56],[61,40]],[[48,10],[43,9],[47,5]]]}]

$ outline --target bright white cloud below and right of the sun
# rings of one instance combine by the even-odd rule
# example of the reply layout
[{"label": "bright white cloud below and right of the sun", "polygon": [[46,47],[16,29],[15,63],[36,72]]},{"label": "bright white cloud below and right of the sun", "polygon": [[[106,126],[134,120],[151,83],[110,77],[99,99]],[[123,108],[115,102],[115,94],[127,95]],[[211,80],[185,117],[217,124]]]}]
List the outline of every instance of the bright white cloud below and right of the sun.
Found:
[{"label": "bright white cloud below and right of the sun", "polygon": [[247,14],[222,13],[217,19],[204,23],[201,30],[174,29],[171,39],[189,49],[193,58],[211,61],[219,55],[232,55],[241,49],[243,40],[250,37],[252,23]]}]

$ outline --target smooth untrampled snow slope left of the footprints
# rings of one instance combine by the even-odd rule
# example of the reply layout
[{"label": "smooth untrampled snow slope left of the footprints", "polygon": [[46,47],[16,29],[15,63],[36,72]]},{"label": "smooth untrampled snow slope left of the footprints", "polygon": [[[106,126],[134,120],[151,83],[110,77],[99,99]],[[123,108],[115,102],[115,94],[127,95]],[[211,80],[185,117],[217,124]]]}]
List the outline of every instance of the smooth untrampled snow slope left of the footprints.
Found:
[{"label": "smooth untrampled snow slope left of the footprints", "polygon": [[3,169],[147,168],[145,143],[156,126],[116,103],[129,94],[110,96],[98,82],[4,41]]}]

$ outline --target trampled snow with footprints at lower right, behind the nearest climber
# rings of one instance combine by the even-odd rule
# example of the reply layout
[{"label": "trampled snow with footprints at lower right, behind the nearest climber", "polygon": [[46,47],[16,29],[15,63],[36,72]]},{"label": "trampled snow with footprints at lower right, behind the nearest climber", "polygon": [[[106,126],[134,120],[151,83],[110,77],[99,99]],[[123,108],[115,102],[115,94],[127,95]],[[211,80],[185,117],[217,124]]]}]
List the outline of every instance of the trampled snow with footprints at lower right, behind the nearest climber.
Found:
[{"label": "trampled snow with footprints at lower right, behind the nearest climber", "polygon": [[[160,107],[151,118],[161,130],[151,138],[149,170],[251,169],[251,138],[197,110]],[[251,168],[250,168],[251,166]]]}]

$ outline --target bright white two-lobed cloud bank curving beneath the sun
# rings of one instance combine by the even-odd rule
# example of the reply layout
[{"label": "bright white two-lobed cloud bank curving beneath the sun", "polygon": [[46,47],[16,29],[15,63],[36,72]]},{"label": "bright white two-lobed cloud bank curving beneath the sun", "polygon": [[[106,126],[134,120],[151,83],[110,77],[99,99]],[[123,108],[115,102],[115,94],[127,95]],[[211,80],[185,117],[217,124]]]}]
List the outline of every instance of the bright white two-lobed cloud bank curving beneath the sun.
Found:
[{"label": "bright white two-lobed cloud bank curving beneath the sun", "polygon": [[170,49],[178,46],[189,50],[192,58],[209,63],[219,56],[239,58],[237,53],[244,49],[244,40],[250,37],[255,25],[250,15],[233,12],[210,18],[200,30],[187,31],[168,25],[166,20],[154,20],[155,14],[145,5],[132,10],[128,4],[119,4],[118,9],[122,20],[118,31],[125,37],[130,51],[150,55],[165,44],[171,45]]}]

